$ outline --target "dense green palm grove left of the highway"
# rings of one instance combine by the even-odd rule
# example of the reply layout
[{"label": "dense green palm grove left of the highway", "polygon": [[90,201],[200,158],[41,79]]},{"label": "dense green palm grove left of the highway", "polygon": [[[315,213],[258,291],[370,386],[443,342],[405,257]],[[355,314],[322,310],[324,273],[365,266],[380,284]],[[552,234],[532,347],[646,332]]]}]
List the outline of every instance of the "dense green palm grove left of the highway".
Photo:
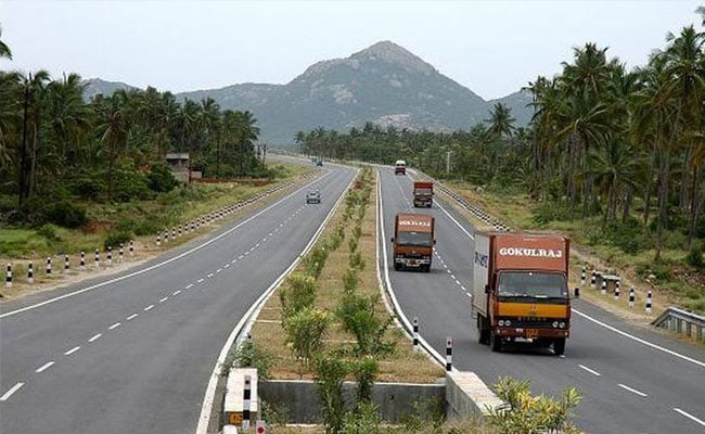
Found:
[{"label": "dense green palm grove left of the highway", "polygon": [[[11,55],[0,41],[0,58]],[[82,93],[76,74],[0,72],[3,226],[85,227],[95,204],[169,193],[178,182],[164,163],[168,152],[190,153],[190,169],[206,178],[272,175],[249,112],[221,111],[211,99],[178,102],[154,88],[89,102]]]}]

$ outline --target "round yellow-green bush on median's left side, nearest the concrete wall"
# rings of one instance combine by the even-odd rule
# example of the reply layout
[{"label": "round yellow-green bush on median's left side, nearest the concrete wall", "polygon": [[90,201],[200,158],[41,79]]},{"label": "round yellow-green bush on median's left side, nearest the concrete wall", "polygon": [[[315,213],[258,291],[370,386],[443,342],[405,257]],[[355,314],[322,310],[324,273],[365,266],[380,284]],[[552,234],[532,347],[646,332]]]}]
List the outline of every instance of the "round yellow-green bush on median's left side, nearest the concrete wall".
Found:
[{"label": "round yellow-green bush on median's left side, nearest the concrete wall", "polygon": [[313,307],[305,307],[289,318],[284,318],[283,327],[287,334],[287,345],[294,357],[304,366],[323,348],[323,340],[328,335],[330,316]]}]

